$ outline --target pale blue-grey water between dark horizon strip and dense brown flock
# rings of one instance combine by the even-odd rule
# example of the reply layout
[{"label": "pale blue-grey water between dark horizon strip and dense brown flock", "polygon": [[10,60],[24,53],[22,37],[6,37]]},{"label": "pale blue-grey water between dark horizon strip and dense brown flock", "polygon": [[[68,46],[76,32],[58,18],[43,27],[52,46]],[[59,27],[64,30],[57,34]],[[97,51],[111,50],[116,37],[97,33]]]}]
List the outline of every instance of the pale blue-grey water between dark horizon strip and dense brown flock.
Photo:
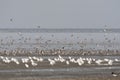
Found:
[{"label": "pale blue-grey water between dark horizon strip and dense brown flock", "polygon": [[119,33],[2,33],[0,39],[0,49],[120,49]]}]

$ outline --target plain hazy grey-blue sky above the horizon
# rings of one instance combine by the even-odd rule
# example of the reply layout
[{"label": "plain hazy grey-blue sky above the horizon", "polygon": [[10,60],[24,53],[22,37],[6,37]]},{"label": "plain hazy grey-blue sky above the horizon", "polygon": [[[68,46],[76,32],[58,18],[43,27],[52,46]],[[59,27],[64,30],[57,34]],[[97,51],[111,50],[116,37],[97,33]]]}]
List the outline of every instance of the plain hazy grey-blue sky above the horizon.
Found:
[{"label": "plain hazy grey-blue sky above the horizon", "polygon": [[120,0],[0,0],[0,28],[120,27]]}]

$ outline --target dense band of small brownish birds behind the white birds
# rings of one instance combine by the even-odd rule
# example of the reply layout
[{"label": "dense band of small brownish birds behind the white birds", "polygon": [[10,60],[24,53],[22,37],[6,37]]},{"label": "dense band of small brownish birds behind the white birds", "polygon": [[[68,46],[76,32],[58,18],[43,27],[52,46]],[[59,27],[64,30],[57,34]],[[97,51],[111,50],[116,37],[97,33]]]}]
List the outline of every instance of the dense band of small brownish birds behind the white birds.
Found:
[{"label": "dense band of small brownish birds behind the white birds", "polygon": [[119,50],[64,50],[64,49],[47,49],[47,50],[26,50],[26,49],[15,49],[15,50],[3,50],[0,51],[0,56],[115,56],[120,55]]}]

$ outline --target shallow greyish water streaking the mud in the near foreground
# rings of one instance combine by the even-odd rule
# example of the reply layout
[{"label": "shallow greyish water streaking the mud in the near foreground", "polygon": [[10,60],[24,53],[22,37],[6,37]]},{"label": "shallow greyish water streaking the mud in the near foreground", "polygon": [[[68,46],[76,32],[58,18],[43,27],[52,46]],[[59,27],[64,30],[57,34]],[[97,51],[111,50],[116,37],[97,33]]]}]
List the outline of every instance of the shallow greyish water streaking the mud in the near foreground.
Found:
[{"label": "shallow greyish water streaking the mud in the near foreground", "polygon": [[61,69],[14,69],[0,70],[0,77],[80,77],[80,76],[112,76],[112,72],[120,72],[120,67],[79,67]]}]

